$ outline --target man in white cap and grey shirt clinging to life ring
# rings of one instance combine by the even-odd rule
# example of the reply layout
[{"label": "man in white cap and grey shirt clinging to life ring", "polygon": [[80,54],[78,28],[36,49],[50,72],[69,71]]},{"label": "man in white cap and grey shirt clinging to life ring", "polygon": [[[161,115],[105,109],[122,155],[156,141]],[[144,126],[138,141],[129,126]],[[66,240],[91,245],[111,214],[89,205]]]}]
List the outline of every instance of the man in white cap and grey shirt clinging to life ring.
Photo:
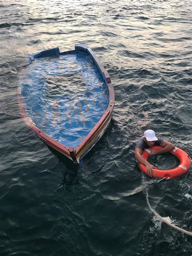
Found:
[{"label": "man in white cap and grey shirt clinging to life ring", "polygon": [[145,160],[142,156],[143,149],[147,147],[153,147],[153,146],[162,146],[162,149],[159,150],[151,150],[150,155],[156,155],[156,154],[163,154],[166,152],[169,152],[170,150],[175,148],[175,145],[172,144],[169,141],[165,141],[162,138],[157,138],[156,134],[153,130],[146,130],[143,134],[143,137],[141,137],[135,146],[135,158],[138,162],[141,164],[144,164],[146,166],[146,173],[149,176],[152,176],[152,174],[156,174],[154,171],[154,166],[152,164],[149,164],[147,160]]}]

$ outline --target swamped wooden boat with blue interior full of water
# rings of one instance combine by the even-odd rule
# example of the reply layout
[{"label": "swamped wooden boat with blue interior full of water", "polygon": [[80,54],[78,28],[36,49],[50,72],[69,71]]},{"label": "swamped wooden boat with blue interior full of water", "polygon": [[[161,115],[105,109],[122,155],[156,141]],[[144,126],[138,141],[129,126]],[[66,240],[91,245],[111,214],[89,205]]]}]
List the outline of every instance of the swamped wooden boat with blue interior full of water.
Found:
[{"label": "swamped wooden boat with blue interior full of water", "polygon": [[79,163],[111,121],[109,74],[87,45],[30,55],[19,83],[21,116],[47,145]]}]

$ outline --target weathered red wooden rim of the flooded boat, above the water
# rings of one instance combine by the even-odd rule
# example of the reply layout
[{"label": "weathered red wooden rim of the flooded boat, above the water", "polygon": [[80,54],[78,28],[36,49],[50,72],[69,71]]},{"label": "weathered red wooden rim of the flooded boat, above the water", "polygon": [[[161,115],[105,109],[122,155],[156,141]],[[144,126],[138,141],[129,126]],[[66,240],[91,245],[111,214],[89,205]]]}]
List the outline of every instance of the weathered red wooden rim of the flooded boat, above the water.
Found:
[{"label": "weathered red wooden rim of the flooded boat, above the water", "polygon": [[113,113],[113,107],[114,107],[114,104],[115,104],[115,93],[114,93],[114,90],[113,90],[113,85],[111,83],[109,73],[102,66],[100,60],[96,57],[96,55],[90,49],[90,47],[88,47],[85,44],[75,45],[75,50],[65,51],[65,52],[60,53],[60,55],[66,55],[66,54],[70,54],[70,53],[77,53],[78,51],[81,52],[81,53],[84,52],[86,55],[90,56],[90,58],[94,61],[97,68],[99,69],[100,74],[102,75],[105,83],[107,84],[108,90],[109,90],[109,105],[108,105],[107,110],[105,111],[105,113],[102,115],[102,117],[99,119],[99,121],[94,126],[94,128],[92,128],[92,130],[87,134],[87,136],[81,141],[81,143],[75,149],[73,149],[73,147],[66,147],[65,145],[63,145],[60,142],[56,141],[55,139],[51,138],[49,135],[47,135],[42,130],[37,128],[35,124],[33,124],[32,119],[30,117],[28,117],[28,115],[26,113],[26,110],[24,108],[23,99],[22,99],[22,96],[21,96],[20,91],[18,89],[19,108],[20,108],[20,112],[21,112],[21,117],[23,117],[25,119],[26,124],[36,133],[36,135],[40,139],[42,139],[49,146],[53,147],[57,151],[61,152],[62,154],[64,154],[68,158],[70,158],[73,162],[74,162],[74,160],[72,159],[70,151],[74,152],[75,157],[78,158],[78,162],[79,162],[79,160],[81,159],[81,155],[87,149],[87,147],[89,147],[89,145],[91,143],[92,143],[92,145],[90,146],[90,149],[92,149],[92,147],[94,145],[94,141],[96,140],[96,138],[100,134],[100,131],[103,130],[105,128],[105,126],[107,125],[107,123],[108,123],[107,121],[109,120],[109,118],[111,117],[111,115]]}]

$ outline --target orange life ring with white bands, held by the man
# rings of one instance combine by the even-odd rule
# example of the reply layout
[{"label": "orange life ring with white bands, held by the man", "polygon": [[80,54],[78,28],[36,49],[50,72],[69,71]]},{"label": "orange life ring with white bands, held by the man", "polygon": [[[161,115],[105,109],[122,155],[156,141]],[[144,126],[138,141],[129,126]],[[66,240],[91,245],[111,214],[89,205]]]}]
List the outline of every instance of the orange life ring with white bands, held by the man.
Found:
[{"label": "orange life ring with white bands, held by the man", "polygon": [[[150,149],[152,149],[152,150],[159,150],[162,148],[163,147],[161,147],[161,146],[150,147]],[[149,157],[150,149],[149,148],[144,149],[142,152],[142,156],[145,160],[147,160]],[[175,147],[175,149],[171,150],[170,153],[172,153],[177,158],[179,158],[179,160],[180,160],[179,166],[177,166],[173,169],[170,169],[170,170],[160,170],[160,169],[154,168],[154,171],[156,172],[156,174],[153,173],[152,174],[153,177],[173,179],[173,178],[178,178],[178,177],[183,176],[190,170],[192,160],[185,151],[183,151],[180,148]],[[139,168],[141,169],[141,171],[143,171],[143,173],[146,174],[146,166],[144,164],[141,164],[140,162],[138,163],[138,165],[139,165]]]}]

